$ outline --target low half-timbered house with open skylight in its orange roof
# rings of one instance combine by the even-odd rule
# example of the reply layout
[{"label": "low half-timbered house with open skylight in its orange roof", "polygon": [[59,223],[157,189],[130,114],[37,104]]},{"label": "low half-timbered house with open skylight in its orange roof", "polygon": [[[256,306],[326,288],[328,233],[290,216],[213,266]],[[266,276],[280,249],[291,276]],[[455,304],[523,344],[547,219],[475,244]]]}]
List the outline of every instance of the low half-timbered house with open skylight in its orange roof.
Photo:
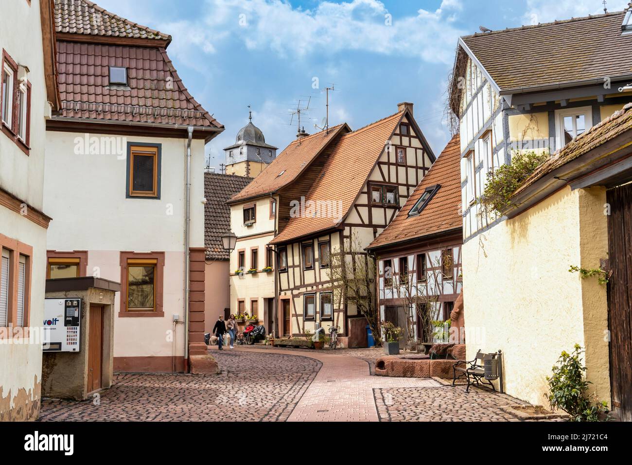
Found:
[{"label": "low half-timbered house with open skylight in its orange roof", "polygon": [[[455,135],[367,251],[377,256],[380,319],[432,342],[432,321],[450,318],[461,292],[461,178]],[[411,332],[411,334],[409,333]]]}]

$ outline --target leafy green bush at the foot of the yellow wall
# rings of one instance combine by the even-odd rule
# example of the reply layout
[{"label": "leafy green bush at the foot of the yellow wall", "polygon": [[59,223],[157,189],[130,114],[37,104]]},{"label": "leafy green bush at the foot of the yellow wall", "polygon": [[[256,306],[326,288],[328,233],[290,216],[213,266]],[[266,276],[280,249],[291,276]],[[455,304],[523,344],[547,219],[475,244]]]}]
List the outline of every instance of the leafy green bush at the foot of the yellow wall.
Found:
[{"label": "leafy green bush at the foot of the yellow wall", "polygon": [[608,404],[600,402],[596,395],[588,395],[590,381],[584,378],[586,367],[581,363],[582,352],[579,344],[575,344],[572,355],[562,350],[557,359],[559,366],[553,366],[553,376],[547,376],[549,393],[546,397],[551,411],[562,409],[571,416],[571,421],[599,421],[600,414],[608,412]]}]

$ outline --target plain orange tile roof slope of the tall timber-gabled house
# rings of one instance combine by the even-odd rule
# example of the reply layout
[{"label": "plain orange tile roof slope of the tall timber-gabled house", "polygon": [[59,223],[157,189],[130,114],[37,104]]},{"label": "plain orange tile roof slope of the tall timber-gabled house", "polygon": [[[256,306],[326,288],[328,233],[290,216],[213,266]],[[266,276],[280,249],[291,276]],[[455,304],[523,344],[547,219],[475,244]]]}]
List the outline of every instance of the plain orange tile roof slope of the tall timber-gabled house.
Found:
[{"label": "plain orange tile roof slope of the tall timber-gabled house", "polygon": [[288,225],[270,243],[289,242],[337,227],[353,206],[404,113],[405,111],[399,111],[356,131],[343,134],[337,140],[318,180],[305,195],[305,201],[341,202],[342,218],[290,218]]}]

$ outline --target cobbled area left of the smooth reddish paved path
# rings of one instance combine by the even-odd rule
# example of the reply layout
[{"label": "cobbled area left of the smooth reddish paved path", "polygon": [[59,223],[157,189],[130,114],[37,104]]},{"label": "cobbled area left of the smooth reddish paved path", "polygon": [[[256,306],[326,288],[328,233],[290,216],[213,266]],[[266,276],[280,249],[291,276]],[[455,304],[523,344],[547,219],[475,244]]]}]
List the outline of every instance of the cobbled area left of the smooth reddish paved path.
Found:
[{"label": "cobbled area left of the smooth reddish paved path", "polygon": [[214,350],[221,375],[118,373],[92,400],[44,399],[41,421],[286,421],[320,369],[291,354]]}]

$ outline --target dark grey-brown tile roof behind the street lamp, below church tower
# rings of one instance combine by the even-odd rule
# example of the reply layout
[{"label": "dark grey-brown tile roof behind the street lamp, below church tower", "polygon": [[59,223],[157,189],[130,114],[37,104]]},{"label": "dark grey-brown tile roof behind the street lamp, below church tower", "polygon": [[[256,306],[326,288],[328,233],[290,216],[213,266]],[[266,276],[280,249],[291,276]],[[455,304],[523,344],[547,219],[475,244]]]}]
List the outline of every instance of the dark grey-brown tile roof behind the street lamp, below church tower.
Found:
[{"label": "dark grey-brown tile roof behind the street lamp, below church tower", "polygon": [[228,260],[221,235],[231,230],[231,208],[226,201],[252,181],[236,175],[204,173],[204,246],[209,259]]}]

